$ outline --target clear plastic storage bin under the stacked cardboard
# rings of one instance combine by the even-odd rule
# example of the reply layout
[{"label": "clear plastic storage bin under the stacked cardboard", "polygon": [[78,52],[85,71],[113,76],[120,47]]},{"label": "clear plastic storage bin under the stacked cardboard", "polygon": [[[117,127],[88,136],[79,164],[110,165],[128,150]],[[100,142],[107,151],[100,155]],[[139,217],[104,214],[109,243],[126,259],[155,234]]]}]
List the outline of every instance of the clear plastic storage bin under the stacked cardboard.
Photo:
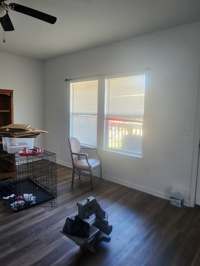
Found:
[{"label": "clear plastic storage bin under the stacked cardboard", "polygon": [[8,153],[17,153],[22,148],[32,149],[34,145],[34,138],[2,138],[3,150]]}]

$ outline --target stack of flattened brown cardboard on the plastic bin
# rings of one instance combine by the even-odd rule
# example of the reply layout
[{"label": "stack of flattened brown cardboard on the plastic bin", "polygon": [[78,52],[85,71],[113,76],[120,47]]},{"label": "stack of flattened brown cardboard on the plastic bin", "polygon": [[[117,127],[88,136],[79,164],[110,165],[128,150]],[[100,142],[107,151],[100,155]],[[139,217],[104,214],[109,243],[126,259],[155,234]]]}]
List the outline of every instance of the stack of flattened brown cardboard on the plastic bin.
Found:
[{"label": "stack of flattened brown cardboard on the plastic bin", "polygon": [[0,128],[0,137],[36,138],[41,133],[48,132],[37,128],[30,128],[30,125],[25,124],[10,124]]}]

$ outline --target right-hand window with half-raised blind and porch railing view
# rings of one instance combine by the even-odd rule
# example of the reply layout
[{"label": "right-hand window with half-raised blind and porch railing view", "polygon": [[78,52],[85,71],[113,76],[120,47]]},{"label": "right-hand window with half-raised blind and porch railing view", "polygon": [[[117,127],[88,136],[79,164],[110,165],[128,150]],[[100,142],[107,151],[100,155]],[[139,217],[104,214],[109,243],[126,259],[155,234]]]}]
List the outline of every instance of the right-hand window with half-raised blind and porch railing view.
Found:
[{"label": "right-hand window with half-raised blind and porch railing view", "polygon": [[106,79],[107,149],[141,153],[145,75]]}]

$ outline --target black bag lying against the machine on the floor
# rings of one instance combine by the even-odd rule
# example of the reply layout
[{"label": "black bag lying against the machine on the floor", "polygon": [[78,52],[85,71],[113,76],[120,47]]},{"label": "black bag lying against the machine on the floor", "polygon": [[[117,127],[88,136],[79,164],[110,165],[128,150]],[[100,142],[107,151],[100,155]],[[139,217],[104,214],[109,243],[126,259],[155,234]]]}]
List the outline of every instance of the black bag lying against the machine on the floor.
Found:
[{"label": "black bag lying against the machine on the floor", "polygon": [[78,215],[68,217],[63,232],[68,235],[88,238],[90,236],[90,225],[84,220],[78,218]]}]

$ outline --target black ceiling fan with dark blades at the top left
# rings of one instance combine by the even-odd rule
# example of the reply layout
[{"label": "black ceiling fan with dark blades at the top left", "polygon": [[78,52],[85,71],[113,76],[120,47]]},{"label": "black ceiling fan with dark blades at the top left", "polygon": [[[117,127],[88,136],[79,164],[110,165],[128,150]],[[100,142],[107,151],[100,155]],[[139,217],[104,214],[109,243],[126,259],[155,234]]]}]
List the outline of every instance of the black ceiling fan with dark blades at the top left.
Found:
[{"label": "black ceiling fan with dark blades at the top left", "polygon": [[20,12],[22,14],[25,14],[31,17],[35,17],[37,19],[43,20],[51,24],[54,24],[57,20],[56,17],[37,11],[30,7],[25,7],[19,4],[15,4],[15,3],[10,3],[9,5],[7,5],[5,1],[7,0],[4,0],[4,1],[0,0],[0,23],[4,31],[14,31],[14,27],[12,25],[10,17],[8,16],[8,10],[9,10],[8,7],[11,10]]}]

